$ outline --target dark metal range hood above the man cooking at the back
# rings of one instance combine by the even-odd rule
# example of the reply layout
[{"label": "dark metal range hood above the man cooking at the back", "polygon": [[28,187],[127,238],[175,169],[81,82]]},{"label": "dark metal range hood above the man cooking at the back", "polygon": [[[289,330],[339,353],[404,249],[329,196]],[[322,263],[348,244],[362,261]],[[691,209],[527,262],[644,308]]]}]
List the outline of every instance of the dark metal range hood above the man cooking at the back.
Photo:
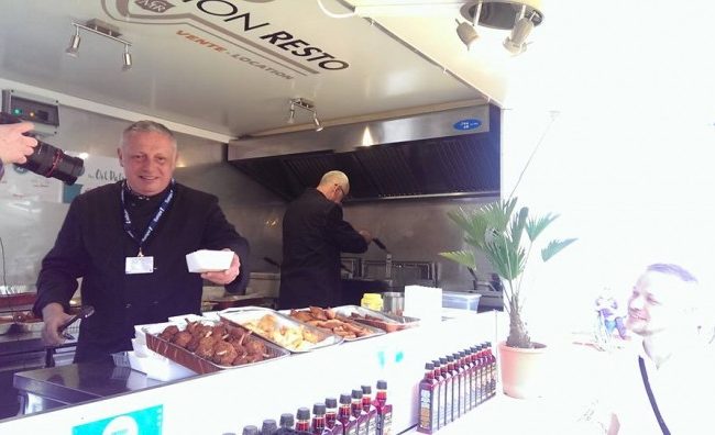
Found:
[{"label": "dark metal range hood above the man cooking at the back", "polygon": [[288,201],[333,169],[350,177],[345,202],[498,196],[499,156],[493,104],[245,137],[228,150],[233,166]]}]

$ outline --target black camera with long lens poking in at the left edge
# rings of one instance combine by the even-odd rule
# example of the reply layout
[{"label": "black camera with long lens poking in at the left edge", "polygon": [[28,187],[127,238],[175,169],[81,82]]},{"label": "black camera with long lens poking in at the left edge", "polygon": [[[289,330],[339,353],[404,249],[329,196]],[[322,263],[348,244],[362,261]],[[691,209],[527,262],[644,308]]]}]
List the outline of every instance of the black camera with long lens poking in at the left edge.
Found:
[{"label": "black camera with long lens poking in at the left edge", "polygon": [[[22,122],[22,120],[0,112],[0,124],[16,124],[19,122]],[[25,134],[34,137],[31,133]],[[56,178],[69,186],[74,185],[77,177],[85,171],[85,160],[79,157],[68,156],[62,149],[42,141],[37,141],[37,146],[28,156],[28,161],[16,166],[46,178]]]}]

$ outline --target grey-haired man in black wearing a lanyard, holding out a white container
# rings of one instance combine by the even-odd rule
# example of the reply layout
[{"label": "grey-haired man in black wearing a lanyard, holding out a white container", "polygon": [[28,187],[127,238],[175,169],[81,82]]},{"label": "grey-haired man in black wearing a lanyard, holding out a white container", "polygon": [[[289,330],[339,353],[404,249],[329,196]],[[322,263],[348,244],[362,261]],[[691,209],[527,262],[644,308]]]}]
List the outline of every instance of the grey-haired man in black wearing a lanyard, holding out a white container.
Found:
[{"label": "grey-haired man in black wearing a lanyard, holding out a white container", "polygon": [[[134,325],[198,314],[201,279],[230,292],[244,291],[249,281],[249,243],[218,199],[175,182],[178,154],[169,130],[139,121],[123,132],[118,154],[127,179],[73,201],[37,279],[34,312],[45,322],[44,342],[57,345],[82,278],[82,304],[95,314],[81,322],[77,362],[131,349]],[[186,255],[197,249],[232,250],[231,267],[190,274]]]}]

